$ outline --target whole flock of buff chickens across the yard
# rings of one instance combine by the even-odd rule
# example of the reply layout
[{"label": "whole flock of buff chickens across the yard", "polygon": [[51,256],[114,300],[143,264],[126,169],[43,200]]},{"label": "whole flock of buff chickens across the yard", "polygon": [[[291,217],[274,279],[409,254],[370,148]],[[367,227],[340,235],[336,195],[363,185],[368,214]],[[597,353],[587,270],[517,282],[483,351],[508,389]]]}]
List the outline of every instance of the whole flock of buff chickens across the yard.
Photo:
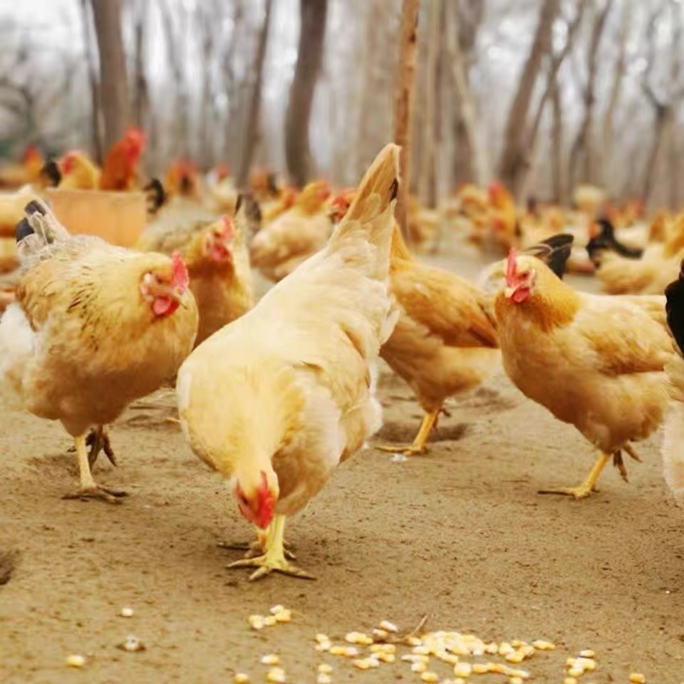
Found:
[{"label": "whole flock of buff chickens across the yard", "polygon": [[[135,190],[143,146],[127,131],[102,170],[81,152],[29,156],[28,185],[0,197],[21,263],[0,318],[0,397],[73,437],[80,482],[68,497],[125,496],[91,472],[100,452],[115,463],[107,426],[175,384],[187,442],[257,532],[234,566],[254,568],[251,579],[310,578],[289,557],[286,517],[380,428],[380,358],[425,414],[412,443],[380,449],[424,453],[445,400],[502,365],[598,451],[584,482],[555,493],[589,496],[611,460],[626,479],[623,453],[638,460],[633,442],[663,423],[665,475],[684,492],[684,217],[639,224],[638,204],[606,207],[589,187],[574,214],[536,202],[519,212],[500,185],[462,187],[440,219],[413,204],[413,245],[437,242],[451,216],[475,242],[508,250],[470,282],[406,244],[394,219],[399,148],[387,145],[358,188],[336,195],[265,172],[239,195],[224,168],[207,188],[178,162],[145,186],[152,220],[135,249],[71,236],[41,190]],[[276,282],[256,304],[252,267]],[[596,270],[619,296],[576,291],[568,268]]]}]

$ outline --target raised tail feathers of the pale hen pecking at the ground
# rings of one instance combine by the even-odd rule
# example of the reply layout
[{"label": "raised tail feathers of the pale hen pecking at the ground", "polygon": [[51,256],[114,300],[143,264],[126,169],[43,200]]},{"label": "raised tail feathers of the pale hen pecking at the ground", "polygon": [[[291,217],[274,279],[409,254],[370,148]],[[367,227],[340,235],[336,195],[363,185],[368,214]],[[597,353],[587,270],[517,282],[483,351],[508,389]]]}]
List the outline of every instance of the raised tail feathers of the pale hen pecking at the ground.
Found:
[{"label": "raised tail feathers of the pale hen pecking at the ground", "polygon": [[378,279],[388,276],[394,205],[399,191],[399,150],[393,143],[380,150],[329,243],[335,249],[361,229],[366,240],[375,247],[375,277]]}]

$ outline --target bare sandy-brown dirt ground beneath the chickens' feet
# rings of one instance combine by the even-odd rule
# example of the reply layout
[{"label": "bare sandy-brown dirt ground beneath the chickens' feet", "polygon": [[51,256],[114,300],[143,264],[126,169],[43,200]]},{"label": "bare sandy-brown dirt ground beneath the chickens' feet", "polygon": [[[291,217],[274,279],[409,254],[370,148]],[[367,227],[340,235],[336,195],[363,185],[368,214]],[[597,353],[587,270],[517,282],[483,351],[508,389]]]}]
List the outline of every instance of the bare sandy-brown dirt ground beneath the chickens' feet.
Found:
[{"label": "bare sandy-brown dirt ground beneath the chickens' feet", "polygon": [[[380,437],[413,437],[420,410],[387,369],[381,395]],[[561,684],[566,658],[583,648],[598,661],[583,684],[626,683],[634,671],[684,682],[684,512],[665,489],[660,435],[641,446],[642,464],[628,464],[629,484],[608,470],[601,491],[576,502],[537,490],[579,482],[591,449],[504,375],[448,408],[430,455],[393,462],[366,450],[291,521],[287,537],[318,581],[255,584],[226,569],[239,553],[217,542],[251,530],[164,420],[171,393],[115,425],[120,467],[101,465],[96,477],[128,489],[120,506],[62,500],[76,468],[61,428],[0,416],[0,682],[218,684],[235,671],[263,682],[266,653],[280,655],[289,682],[314,683],[323,661],[333,682],[420,682],[399,660],[360,672],[316,653],[314,635],[341,639],[383,619],[410,629],[425,615],[428,630],[554,641],[556,651],[521,665],[535,682]],[[292,622],[250,630],[247,616],[275,603]],[[135,615],[120,617],[123,606]],[[145,651],[117,648],[129,634]],[[86,667],[66,668],[70,654],[86,655]]]}]

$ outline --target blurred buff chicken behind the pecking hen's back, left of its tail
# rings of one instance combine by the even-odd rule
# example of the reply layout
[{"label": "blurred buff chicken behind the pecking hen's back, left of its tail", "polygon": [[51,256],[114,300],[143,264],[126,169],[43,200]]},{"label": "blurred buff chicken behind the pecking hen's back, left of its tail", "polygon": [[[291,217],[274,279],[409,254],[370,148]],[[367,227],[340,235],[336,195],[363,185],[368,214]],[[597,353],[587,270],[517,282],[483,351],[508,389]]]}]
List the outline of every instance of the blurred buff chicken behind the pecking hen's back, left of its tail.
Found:
[{"label": "blurred buff chicken behind the pecking hen's back, left of its tail", "polygon": [[282,213],[254,236],[249,246],[252,266],[279,281],[326,244],[332,223],[323,207],[331,193],[326,182],[309,183]]}]

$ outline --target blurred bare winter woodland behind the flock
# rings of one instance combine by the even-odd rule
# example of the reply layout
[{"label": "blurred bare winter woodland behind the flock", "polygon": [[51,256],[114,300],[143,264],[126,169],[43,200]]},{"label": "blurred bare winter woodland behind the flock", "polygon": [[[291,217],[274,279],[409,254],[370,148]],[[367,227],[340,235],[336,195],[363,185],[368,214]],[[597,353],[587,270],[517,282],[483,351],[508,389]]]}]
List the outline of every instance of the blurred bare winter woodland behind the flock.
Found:
[{"label": "blurred bare winter woodland behind the flock", "polygon": [[[144,167],[253,165],[357,182],[393,139],[402,0],[4,0],[0,160],[36,143],[101,161],[128,124]],[[423,0],[411,187],[569,202],[579,183],[683,203],[680,0]]]}]

